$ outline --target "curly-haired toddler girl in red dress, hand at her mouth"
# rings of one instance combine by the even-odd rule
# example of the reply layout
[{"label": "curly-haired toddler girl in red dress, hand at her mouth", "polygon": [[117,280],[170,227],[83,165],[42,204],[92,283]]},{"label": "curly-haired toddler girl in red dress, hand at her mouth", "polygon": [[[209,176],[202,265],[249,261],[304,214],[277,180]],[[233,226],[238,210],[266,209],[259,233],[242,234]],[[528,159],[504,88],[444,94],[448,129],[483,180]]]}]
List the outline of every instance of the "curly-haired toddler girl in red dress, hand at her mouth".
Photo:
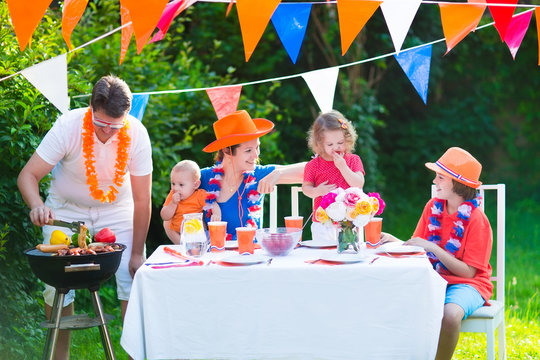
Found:
[{"label": "curly-haired toddler girl in red dress, hand at her mouth", "polygon": [[[322,196],[342,188],[364,187],[364,166],[358,155],[352,154],[358,135],[352,124],[339,111],[319,115],[309,130],[308,146],[315,157],[306,164],[302,191],[315,199],[313,211]],[[312,234],[325,232],[325,227],[313,219]]]}]

